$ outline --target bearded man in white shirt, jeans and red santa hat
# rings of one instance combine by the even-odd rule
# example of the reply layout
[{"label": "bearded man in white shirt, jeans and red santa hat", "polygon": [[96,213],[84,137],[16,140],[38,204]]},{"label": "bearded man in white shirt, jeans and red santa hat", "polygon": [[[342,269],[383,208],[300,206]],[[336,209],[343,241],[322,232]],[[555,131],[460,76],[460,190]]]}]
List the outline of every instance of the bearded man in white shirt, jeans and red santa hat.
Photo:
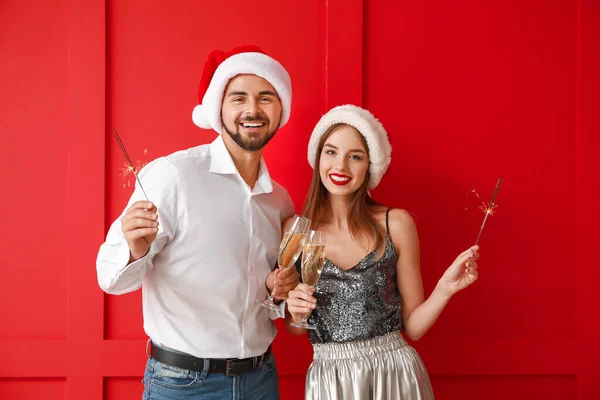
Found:
[{"label": "bearded man in white shirt, jeans and red santa hat", "polygon": [[285,299],[298,282],[295,268],[272,271],[294,208],[261,155],[289,119],[290,77],[255,46],[214,51],[198,99],[194,123],[220,136],[144,168],[151,201],[136,187],[100,247],[98,282],[111,294],[143,288],[145,399],[277,399],[269,317],[283,313],[256,301]]}]

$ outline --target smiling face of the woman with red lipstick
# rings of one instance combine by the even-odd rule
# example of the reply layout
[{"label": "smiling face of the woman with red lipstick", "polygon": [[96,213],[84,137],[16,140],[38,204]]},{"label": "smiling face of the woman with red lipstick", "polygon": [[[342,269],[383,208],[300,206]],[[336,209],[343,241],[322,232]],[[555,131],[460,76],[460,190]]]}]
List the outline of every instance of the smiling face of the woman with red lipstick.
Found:
[{"label": "smiling face of the woman with red lipstick", "polygon": [[352,126],[340,125],[325,139],[319,158],[321,182],[332,195],[348,196],[365,184],[369,156],[365,139]]}]

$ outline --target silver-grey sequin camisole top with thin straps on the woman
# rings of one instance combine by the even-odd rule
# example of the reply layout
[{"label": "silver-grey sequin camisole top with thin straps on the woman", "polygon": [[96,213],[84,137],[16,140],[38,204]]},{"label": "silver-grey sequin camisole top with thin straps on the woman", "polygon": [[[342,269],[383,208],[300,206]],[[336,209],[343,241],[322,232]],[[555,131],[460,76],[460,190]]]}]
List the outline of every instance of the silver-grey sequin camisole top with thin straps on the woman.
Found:
[{"label": "silver-grey sequin camisole top with thin straps on the woman", "polygon": [[308,331],[310,341],[343,343],[404,330],[402,299],[396,282],[397,260],[389,230],[379,260],[373,251],[344,271],[326,259],[315,287],[317,308],[308,319],[316,326],[316,330]]}]

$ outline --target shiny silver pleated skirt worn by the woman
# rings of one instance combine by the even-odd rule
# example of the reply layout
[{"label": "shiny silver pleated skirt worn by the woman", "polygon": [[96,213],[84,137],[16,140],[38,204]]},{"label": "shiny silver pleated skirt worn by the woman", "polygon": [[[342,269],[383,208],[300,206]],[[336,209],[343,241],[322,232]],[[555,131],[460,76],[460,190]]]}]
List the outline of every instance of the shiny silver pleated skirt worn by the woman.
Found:
[{"label": "shiny silver pleated skirt worn by the woman", "polygon": [[400,332],[356,342],[315,344],[313,349],[306,399],[433,399],[423,361]]}]

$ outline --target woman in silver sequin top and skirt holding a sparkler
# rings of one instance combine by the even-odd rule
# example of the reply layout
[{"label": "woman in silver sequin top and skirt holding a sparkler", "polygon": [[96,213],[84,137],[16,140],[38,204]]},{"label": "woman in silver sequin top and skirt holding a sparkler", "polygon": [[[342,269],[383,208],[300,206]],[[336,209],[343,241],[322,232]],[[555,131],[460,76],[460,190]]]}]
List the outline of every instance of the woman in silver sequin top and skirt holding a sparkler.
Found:
[{"label": "woman in silver sequin top and skirt holding a sparkler", "polygon": [[421,338],[450,298],[478,277],[475,246],[424,299],[413,219],[368,193],[390,153],[381,123],[352,105],[329,111],[310,138],[314,174],[304,215],[324,233],[327,259],[314,292],[300,283],[287,301],[288,323],[309,314],[316,328],[309,332],[314,358],[307,399],[432,399],[427,371],[400,331]]}]

